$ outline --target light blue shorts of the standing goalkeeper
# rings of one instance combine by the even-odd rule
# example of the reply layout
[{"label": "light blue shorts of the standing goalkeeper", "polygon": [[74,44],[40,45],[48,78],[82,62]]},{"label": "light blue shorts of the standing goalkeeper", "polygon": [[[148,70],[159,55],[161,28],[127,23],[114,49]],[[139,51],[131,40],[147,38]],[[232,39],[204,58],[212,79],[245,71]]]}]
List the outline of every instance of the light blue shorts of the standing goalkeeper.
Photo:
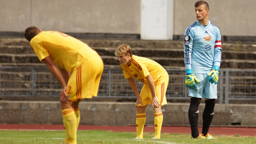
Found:
[{"label": "light blue shorts of the standing goalkeeper", "polygon": [[188,95],[195,98],[217,98],[217,84],[211,84],[206,74],[194,74],[200,83],[196,82],[196,89],[189,89]]}]

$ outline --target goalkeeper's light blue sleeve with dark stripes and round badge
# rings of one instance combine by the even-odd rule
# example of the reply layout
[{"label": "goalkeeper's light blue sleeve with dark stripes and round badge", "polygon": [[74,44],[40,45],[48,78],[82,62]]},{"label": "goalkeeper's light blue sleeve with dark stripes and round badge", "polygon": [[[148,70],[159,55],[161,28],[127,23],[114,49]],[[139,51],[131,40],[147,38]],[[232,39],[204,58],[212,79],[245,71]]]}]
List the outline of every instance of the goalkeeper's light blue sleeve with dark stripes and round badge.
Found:
[{"label": "goalkeeper's light blue sleeve with dark stripes and round badge", "polygon": [[184,33],[184,63],[191,64],[191,54],[194,40],[194,31],[188,27]]}]

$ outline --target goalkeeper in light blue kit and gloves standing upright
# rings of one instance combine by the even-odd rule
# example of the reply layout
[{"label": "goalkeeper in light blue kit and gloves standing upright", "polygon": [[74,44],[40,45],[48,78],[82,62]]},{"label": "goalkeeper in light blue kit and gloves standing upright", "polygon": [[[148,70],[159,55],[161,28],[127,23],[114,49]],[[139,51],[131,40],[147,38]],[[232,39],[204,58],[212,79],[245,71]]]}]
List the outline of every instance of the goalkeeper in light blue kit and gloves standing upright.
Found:
[{"label": "goalkeeper in light blue kit and gloves standing upright", "polygon": [[[208,131],[214,116],[217,83],[221,63],[221,34],[217,26],[208,20],[209,5],[205,1],[195,3],[197,21],[184,33],[184,57],[186,87],[189,88],[190,106],[188,118],[191,138],[214,138]],[[199,104],[205,100],[202,133],[198,132]]]}]

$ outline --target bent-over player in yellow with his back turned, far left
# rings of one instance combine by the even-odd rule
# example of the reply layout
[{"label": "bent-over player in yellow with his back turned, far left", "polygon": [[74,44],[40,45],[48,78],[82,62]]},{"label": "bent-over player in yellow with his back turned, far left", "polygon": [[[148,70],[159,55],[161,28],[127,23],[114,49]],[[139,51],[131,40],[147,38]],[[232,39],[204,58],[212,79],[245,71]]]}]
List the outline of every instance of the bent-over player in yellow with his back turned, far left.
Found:
[{"label": "bent-over player in yellow with his back turned, far left", "polygon": [[83,98],[97,96],[103,72],[102,59],[84,42],[61,32],[41,31],[30,26],[24,36],[62,86],[60,106],[66,131],[64,144],[76,144],[80,121],[78,104]]}]

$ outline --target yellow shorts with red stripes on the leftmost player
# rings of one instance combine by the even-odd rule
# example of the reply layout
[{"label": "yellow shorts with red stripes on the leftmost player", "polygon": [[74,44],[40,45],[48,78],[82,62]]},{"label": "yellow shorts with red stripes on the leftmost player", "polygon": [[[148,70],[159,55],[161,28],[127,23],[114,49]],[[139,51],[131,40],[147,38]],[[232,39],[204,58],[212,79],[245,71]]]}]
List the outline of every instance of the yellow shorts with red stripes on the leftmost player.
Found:
[{"label": "yellow shorts with red stripes on the leftmost player", "polygon": [[68,99],[77,101],[97,96],[103,68],[103,61],[98,54],[94,54],[82,62],[72,72],[68,80],[66,90]]}]

